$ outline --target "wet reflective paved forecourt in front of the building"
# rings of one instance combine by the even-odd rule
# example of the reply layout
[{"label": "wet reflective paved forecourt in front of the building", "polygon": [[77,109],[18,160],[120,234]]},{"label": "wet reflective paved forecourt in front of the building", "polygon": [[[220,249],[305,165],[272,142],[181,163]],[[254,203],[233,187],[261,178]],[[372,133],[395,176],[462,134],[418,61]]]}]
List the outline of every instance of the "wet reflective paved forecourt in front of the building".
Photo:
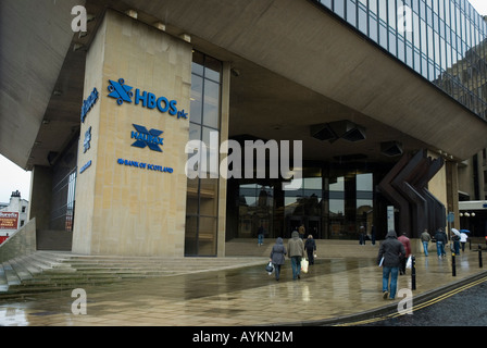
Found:
[{"label": "wet reflective paved forecourt in front of the building", "polygon": [[[292,281],[287,260],[279,282],[265,272],[266,260],[262,266],[85,287],[86,307],[71,290],[18,299],[0,296],[0,325],[336,325],[395,310],[400,301],[382,298],[382,269],[375,258],[321,258],[299,281]],[[487,275],[473,250],[455,260],[453,276],[450,256],[416,256],[413,301]],[[411,289],[410,274],[408,270],[399,276],[398,289]]]}]

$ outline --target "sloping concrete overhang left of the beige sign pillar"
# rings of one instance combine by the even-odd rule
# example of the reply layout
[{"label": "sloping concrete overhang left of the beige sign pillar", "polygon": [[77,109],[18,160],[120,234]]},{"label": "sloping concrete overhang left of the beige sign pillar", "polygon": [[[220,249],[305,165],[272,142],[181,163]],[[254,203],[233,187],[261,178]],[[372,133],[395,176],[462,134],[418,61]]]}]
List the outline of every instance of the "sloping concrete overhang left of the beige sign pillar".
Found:
[{"label": "sloping concrete overhang left of the beige sign pillar", "polygon": [[73,39],[78,0],[0,1],[0,153],[28,169]]}]

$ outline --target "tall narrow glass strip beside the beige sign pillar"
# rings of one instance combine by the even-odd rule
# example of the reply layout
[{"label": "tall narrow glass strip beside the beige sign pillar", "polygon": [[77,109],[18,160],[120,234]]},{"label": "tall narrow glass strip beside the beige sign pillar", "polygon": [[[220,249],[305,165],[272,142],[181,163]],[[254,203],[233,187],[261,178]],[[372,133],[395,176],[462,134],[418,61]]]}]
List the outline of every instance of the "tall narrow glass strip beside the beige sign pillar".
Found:
[{"label": "tall narrow glass strip beside the beige sign pillar", "polygon": [[[218,159],[222,63],[195,51],[191,70],[189,139],[200,140],[195,149],[199,173],[188,178],[186,198],[186,256],[215,256],[218,214],[218,173],[210,165]],[[189,154],[192,157],[195,154]],[[205,163],[202,164],[202,163]],[[204,165],[204,166],[203,166]]]}]

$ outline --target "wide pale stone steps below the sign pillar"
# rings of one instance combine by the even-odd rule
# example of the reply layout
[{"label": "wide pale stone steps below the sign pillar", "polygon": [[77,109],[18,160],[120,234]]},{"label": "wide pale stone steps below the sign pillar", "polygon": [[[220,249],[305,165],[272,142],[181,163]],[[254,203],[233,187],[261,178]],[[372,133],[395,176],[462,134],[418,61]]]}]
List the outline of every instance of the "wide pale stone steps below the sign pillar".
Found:
[{"label": "wide pale stone steps below the sign pillar", "polygon": [[264,263],[265,259],[262,258],[82,256],[66,251],[38,250],[1,264],[0,299],[141,277],[171,276]]}]

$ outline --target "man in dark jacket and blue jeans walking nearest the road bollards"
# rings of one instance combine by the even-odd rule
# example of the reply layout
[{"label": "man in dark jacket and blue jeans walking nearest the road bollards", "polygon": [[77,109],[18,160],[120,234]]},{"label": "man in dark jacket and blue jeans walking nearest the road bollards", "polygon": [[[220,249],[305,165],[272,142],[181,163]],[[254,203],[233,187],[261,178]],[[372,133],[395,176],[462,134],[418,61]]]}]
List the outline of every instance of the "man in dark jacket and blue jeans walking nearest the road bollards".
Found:
[{"label": "man in dark jacket and blue jeans walking nearest the road bollards", "polygon": [[[386,239],[380,243],[377,262],[383,268],[383,298],[392,300],[396,297],[398,287],[398,273],[401,257],[405,256],[404,246],[398,240],[395,231],[387,233]],[[390,293],[389,293],[390,277]]]}]

